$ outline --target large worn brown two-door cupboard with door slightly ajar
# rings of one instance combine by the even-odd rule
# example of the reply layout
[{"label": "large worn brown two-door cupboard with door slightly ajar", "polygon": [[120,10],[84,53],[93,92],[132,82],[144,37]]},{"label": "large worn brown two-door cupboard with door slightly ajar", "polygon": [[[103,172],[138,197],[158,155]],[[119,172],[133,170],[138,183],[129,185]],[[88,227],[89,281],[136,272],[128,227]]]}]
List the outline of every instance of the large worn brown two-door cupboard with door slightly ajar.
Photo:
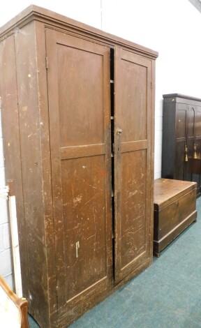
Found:
[{"label": "large worn brown two-door cupboard with door slightly ajar", "polygon": [[157,52],[37,6],[0,38],[23,294],[66,327],[152,261]]}]

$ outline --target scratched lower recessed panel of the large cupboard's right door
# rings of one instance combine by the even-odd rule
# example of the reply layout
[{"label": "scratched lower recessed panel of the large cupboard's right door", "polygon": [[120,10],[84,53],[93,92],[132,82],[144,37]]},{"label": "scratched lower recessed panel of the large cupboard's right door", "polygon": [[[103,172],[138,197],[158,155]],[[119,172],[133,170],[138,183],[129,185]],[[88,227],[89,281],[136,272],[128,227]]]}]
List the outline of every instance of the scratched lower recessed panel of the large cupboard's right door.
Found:
[{"label": "scratched lower recessed panel of the large cupboard's right door", "polygon": [[147,150],[121,154],[121,218],[118,225],[121,267],[146,251]]}]

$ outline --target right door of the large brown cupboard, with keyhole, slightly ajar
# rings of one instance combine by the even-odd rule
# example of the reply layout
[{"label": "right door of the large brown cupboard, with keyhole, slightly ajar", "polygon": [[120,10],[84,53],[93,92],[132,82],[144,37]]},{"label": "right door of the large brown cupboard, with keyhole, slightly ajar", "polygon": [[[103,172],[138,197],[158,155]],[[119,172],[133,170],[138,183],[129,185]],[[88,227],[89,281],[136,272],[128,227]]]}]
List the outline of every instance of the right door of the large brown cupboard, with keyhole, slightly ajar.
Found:
[{"label": "right door of the large brown cupboard, with keyhole, slightly ajar", "polygon": [[114,56],[114,257],[120,281],[150,257],[151,60],[119,48]]}]

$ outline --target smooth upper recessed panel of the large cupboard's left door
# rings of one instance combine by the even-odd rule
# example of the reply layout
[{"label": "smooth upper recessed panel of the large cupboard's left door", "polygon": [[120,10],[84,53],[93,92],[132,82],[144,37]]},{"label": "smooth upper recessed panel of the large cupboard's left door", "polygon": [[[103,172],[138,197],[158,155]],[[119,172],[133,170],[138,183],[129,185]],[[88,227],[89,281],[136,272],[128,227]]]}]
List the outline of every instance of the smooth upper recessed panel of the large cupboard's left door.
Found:
[{"label": "smooth upper recessed panel of the large cupboard's left door", "polygon": [[58,44],[57,67],[61,147],[102,144],[103,55]]}]

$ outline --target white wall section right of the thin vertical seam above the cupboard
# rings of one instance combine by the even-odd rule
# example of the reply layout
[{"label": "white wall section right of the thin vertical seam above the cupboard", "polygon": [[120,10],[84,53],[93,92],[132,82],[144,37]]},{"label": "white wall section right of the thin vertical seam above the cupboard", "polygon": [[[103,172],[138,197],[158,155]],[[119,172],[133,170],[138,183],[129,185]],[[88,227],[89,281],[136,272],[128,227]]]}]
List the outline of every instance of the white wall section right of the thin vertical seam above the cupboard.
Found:
[{"label": "white wall section right of the thin vertical seam above the cupboard", "polygon": [[161,177],[163,94],[201,98],[201,14],[188,0],[103,0],[104,31],[159,52],[155,165]]}]

